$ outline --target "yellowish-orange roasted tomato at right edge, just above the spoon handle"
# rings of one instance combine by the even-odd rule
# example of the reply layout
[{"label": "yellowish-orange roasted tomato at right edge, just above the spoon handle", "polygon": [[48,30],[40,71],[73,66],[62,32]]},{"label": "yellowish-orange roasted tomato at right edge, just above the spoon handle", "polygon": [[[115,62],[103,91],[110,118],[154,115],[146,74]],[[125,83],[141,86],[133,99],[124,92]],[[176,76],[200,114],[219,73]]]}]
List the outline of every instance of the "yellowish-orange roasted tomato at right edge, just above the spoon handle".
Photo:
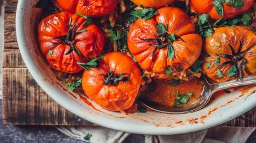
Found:
[{"label": "yellowish-orange roasted tomato at right edge, just above the spoon handle", "polygon": [[256,74],[256,34],[247,27],[217,28],[205,40],[203,70],[215,82]]}]

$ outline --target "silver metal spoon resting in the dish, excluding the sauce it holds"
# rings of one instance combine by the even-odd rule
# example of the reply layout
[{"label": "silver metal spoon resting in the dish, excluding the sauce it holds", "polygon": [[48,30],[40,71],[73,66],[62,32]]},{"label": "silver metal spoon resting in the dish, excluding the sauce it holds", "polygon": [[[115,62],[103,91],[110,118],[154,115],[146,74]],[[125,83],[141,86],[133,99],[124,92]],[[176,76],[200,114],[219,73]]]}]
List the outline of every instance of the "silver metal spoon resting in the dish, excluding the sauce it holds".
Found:
[{"label": "silver metal spoon resting in the dish, excluding the sauce it holds", "polygon": [[158,104],[150,103],[149,101],[145,101],[141,99],[141,103],[154,111],[158,111],[161,113],[168,114],[184,114],[184,113],[192,113],[198,111],[199,109],[206,106],[206,104],[210,101],[213,93],[227,89],[229,87],[238,87],[242,85],[252,85],[256,84],[256,75],[244,77],[242,81],[237,81],[236,79],[228,80],[226,82],[220,82],[216,84],[209,84],[205,77],[201,78],[203,82],[203,90],[201,92],[201,96],[191,104],[184,104],[182,106],[173,106],[173,107],[164,107],[159,106]]}]

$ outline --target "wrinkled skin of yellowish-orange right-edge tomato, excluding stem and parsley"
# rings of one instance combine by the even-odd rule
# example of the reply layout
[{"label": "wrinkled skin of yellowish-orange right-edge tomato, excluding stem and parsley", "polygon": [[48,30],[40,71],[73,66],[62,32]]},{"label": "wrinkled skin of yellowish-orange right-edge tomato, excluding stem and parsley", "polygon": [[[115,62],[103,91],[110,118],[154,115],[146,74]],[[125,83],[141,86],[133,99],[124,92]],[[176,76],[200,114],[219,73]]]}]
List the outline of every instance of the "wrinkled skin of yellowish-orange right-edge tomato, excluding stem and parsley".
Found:
[{"label": "wrinkled skin of yellowish-orange right-edge tomato, excluding stem and parsley", "polygon": [[[234,51],[238,52],[239,46],[241,42],[241,52],[245,51],[249,47],[256,44],[256,34],[252,30],[243,26],[236,26],[234,28],[231,27],[220,27],[217,28],[212,37],[208,37],[205,40],[205,44],[203,45],[203,51],[208,53],[210,56],[205,57],[206,63],[210,63],[211,65],[206,68],[206,63],[203,64],[203,70],[206,75],[214,80],[215,82],[223,82],[226,80],[230,80],[231,78],[235,78],[237,75],[232,77],[228,76],[227,73],[229,69],[234,64],[227,64],[223,66],[218,66],[216,64],[216,59],[219,58],[217,54],[229,54],[232,55],[231,48],[229,44],[234,48]],[[243,58],[246,59],[245,66],[250,72],[250,75],[256,74],[256,46],[253,46],[252,49],[245,53]],[[220,65],[229,59],[220,57]],[[218,76],[218,70],[222,71],[223,77]],[[245,70],[242,69],[243,77],[248,74]]]}]

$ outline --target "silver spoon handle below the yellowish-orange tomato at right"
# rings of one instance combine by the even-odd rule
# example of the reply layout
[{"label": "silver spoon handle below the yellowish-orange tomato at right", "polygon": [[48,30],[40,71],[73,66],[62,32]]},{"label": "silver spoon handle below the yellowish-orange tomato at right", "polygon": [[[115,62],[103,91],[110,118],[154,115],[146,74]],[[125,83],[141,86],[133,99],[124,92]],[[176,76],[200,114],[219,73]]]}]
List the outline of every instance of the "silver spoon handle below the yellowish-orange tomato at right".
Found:
[{"label": "silver spoon handle below the yellowish-orange tomato at right", "polygon": [[213,84],[213,89],[217,91],[217,90],[227,89],[229,87],[238,87],[242,85],[251,85],[251,84],[256,84],[256,75],[244,77],[241,81],[233,79],[233,80],[228,80],[226,82],[216,83],[216,84]]}]

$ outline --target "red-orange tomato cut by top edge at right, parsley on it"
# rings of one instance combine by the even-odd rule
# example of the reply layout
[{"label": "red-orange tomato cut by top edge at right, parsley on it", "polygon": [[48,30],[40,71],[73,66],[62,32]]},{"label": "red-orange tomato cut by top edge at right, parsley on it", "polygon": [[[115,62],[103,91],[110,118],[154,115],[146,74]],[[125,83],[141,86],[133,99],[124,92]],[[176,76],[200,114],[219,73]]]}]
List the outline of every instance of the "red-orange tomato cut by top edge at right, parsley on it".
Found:
[{"label": "red-orange tomato cut by top edge at right, parsley on it", "polygon": [[213,20],[218,20],[219,18],[233,18],[240,13],[243,13],[250,9],[253,5],[254,0],[243,0],[244,6],[241,8],[235,8],[234,6],[229,6],[229,3],[222,3],[223,15],[219,15],[212,4],[213,0],[190,0],[192,9],[200,14],[208,14]]}]

